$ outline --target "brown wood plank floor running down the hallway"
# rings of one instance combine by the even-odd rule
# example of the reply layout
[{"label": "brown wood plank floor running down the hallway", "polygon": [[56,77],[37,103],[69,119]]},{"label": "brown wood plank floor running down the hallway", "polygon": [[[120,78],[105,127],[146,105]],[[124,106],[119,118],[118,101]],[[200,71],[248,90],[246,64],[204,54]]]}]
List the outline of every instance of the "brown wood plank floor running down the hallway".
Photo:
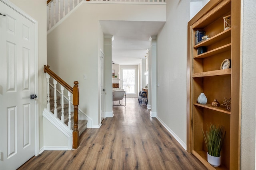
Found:
[{"label": "brown wood plank floor running down the hallway", "polygon": [[100,129],[86,129],[76,150],[44,151],[19,170],[205,170],[192,154],[149,115],[145,104],[127,98]]}]

